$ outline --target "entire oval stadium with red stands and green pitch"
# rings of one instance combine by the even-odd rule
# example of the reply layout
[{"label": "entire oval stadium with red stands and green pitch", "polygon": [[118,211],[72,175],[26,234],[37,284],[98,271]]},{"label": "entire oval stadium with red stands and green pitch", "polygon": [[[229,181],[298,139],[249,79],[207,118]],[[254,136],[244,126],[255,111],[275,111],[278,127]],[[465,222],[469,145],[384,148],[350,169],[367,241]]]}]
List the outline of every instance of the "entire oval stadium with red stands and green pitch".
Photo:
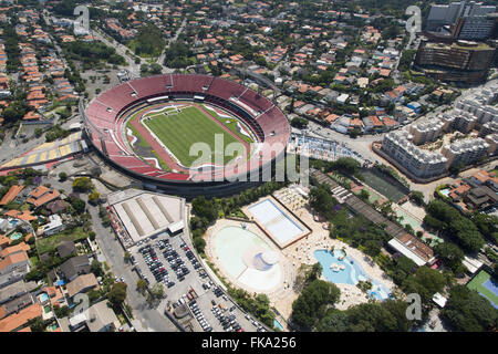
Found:
[{"label": "entire oval stadium with red stands and green pitch", "polygon": [[270,100],[208,75],[124,82],[80,111],[92,145],[113,167],[146,189],[185,197],[260,183],[290,136],[287,117]]}]

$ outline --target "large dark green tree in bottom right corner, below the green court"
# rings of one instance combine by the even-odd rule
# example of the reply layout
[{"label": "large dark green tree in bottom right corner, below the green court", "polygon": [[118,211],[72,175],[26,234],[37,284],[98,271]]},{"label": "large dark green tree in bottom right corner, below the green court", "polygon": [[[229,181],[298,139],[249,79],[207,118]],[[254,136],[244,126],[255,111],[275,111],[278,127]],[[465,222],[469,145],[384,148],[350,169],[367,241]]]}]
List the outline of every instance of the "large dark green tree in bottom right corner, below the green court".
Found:
[{"label": "large dark green tree in bottom right corner, below the green court", "polygon": [[475,290],[456,285],[440,312],[456,331],[484,332],[498,326],[498,310]]}]

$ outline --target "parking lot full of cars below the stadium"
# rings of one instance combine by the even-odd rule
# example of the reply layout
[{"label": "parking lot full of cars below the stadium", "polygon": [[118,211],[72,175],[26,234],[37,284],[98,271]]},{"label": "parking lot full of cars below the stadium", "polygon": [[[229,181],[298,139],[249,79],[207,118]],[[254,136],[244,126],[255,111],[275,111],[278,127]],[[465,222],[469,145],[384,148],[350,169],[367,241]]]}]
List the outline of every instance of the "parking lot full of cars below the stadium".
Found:
[{"label": "parking lot full of cars below the stadium", "polygon": [[187,304],[197,322],[195,327],[205,332],[264,331],[214,283],[190,249],[189,240],[184,238],[184,235],[170,237],[165,232],[129,249],[138,277],[149,288],[160,282],[165,289],[165,304],[158,309],[173,311]]}]

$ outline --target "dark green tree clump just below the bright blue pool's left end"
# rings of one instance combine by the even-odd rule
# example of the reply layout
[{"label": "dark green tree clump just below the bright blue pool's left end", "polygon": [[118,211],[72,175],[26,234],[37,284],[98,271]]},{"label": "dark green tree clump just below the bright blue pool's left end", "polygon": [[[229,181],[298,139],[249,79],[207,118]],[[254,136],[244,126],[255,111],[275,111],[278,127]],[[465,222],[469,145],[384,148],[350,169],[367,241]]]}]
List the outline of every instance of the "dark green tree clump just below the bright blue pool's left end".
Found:
[{"label": "dark green tree clump just below the bright blue pool's left end", "polygon": [[317,320],[323,317],[326,308],[333,305],[340,295],[341,291],[335,284],[319,279],[312,281],[292,303],[292,322],[312,329]]}]

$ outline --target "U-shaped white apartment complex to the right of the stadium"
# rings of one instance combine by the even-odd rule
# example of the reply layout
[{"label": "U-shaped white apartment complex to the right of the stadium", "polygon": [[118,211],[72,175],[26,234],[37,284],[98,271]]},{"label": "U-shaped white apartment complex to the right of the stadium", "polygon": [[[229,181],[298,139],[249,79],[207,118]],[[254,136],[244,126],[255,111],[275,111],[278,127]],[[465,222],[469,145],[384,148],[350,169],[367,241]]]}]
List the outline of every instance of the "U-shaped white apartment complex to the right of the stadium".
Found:
[{"label": "U-shaped white apartment complex to the right of the stadium", "polygon": [[[427,178],[445,173],[456,164],[469,165],[497,153],[498,83],[475,90],[455,103],[455,108],[437,117],[413,124],[403,131],[386,134],[382,149],[414,176]],[[442,134],[458,129],[463,133],[480,129],[478,138],[466,138],[444,146],[438,152],[416,145],[437,139]]]}]

